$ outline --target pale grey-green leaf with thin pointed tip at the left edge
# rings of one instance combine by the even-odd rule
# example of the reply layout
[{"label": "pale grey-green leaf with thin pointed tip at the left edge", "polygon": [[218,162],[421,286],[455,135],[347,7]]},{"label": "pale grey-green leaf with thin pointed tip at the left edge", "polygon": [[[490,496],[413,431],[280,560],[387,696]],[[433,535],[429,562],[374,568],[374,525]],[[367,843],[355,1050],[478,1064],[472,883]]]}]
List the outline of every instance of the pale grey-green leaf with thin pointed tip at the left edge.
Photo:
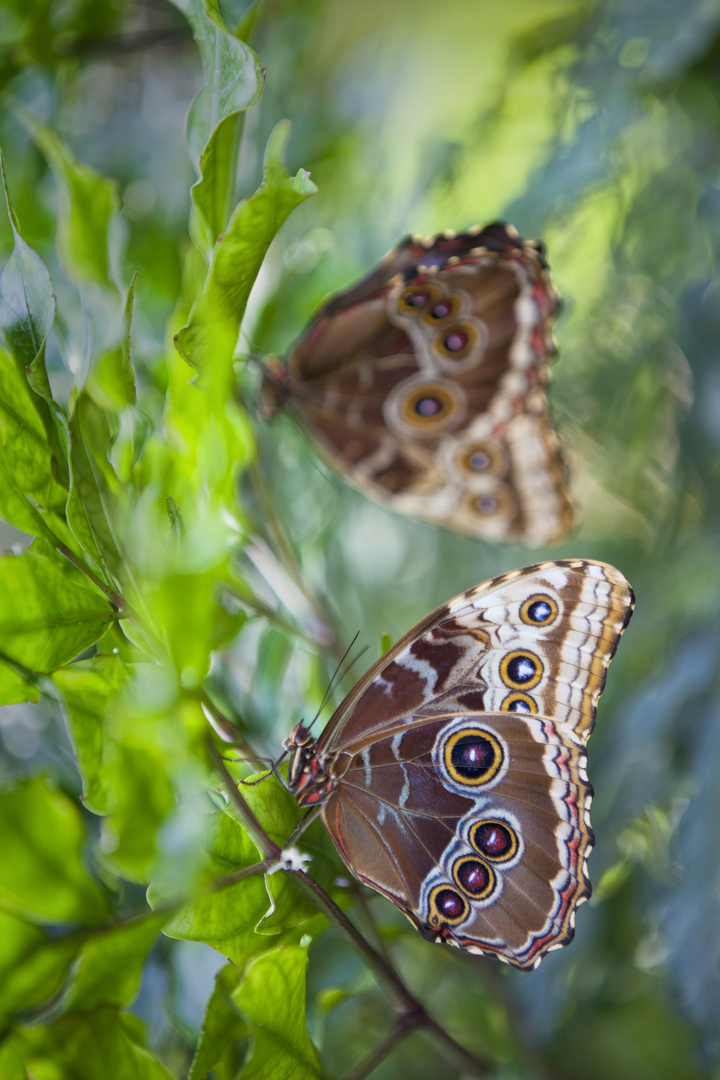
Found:
[{"label": "pale grey-green leaf with thin pointed tip at the left edge", "polygon": [[19,234],[1,153],[0,171],[14,241],[12,254],[0,273],[0,329],[17,362],[27,367],[45,343],[55,318],[55,296],[43,259]]}]

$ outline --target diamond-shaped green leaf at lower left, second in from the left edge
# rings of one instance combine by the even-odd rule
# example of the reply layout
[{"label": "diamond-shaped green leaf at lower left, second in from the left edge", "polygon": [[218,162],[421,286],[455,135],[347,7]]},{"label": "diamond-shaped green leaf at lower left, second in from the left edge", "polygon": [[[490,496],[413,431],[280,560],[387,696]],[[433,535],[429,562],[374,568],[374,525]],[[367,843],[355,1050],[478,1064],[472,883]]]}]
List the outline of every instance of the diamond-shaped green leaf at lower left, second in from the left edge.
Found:
[{"label": "diamond-shaped green leaf at lower left, second in from the left edge", "polygon": [[130,1004],[164,920],[163,915],[150,915],[94,934],[80,950],[64,1009]]}]

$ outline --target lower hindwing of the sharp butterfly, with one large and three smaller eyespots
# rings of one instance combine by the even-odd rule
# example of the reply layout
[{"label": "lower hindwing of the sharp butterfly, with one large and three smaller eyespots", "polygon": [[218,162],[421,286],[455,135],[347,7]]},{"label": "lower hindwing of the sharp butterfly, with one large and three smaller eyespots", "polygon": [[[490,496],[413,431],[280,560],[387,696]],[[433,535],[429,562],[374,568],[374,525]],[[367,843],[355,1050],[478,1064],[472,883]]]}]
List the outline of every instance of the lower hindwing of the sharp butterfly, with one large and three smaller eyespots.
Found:
[{"label": "lower hindwing of the sharp butterfly, with one large and three smaller eyespots", "polygon": [[590,798],[565,725],[429,710],[352,757],[323,818],[353,874],[424,936],[530,969],[571,940],[590,894]]}]

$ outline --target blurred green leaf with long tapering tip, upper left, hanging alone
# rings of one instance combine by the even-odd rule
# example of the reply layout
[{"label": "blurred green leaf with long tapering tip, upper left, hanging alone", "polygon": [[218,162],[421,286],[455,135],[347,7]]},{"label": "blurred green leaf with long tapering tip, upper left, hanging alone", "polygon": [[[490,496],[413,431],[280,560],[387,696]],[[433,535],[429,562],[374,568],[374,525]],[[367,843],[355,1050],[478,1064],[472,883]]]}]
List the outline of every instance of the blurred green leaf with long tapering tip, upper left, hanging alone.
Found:
[{"label": "blurred green leaf with long tapering tip, upper left, hanging alone", "polygon": [[108,228],[120,207],[116,184],[76,161],[58,137],[18,104],[14,106],[47,159],[58,189],[57,253],[77,281],[111,286]]}]

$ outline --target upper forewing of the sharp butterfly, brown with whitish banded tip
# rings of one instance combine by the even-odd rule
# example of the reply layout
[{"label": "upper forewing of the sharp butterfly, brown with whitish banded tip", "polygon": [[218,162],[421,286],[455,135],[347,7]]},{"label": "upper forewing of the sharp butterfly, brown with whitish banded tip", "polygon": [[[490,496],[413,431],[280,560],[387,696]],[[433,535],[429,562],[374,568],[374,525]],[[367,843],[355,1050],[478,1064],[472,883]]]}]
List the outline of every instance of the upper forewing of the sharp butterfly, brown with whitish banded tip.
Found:
[{"label": "upper forewing of the sharp butterfly, brown with whitish banded tip", "polygon": [[322,735],[352,748],[426,706],[551,716],[586,742],[633,590],[613,566],[558,559],[444,604],[345,698]]}]

